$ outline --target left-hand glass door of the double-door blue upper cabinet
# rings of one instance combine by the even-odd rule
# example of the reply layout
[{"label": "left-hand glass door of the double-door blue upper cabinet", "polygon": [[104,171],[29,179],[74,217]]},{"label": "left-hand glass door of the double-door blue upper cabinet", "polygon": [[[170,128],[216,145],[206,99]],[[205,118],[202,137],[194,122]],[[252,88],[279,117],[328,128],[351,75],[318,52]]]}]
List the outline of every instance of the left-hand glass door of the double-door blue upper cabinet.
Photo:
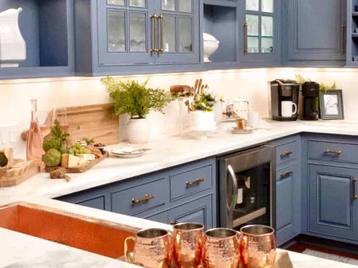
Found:
[{"label": "left-hand glass door of the double-door blue upper cabinet", "polygon": [[154,62],[152,0],[97,1],[100,65]]}]

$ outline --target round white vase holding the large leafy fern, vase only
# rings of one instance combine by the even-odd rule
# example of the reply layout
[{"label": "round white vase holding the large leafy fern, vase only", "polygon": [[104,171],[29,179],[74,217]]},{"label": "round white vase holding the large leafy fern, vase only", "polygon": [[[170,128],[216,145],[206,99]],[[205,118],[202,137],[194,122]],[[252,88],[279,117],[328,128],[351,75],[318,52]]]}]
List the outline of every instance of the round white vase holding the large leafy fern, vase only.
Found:
[{"label": "round white vase holding the large leafy fern, vase only", "polygon": [[148,143],[150,139],[150,122],[147,118],[129,119],[127,123],[128,141],[134,144]]}]

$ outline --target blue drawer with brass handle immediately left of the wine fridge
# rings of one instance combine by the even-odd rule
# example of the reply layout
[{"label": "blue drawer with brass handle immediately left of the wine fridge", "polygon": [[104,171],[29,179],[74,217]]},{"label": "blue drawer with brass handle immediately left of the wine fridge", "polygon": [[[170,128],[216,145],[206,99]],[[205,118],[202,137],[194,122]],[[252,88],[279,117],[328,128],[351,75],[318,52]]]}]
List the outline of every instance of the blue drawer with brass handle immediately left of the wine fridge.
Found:
[{"label": "blue drawer with brass handle immediately left of the wine fridge", "polygon": [[213,186],[213,165],[185,166],[169,175],[170,201],[209,189]]}]

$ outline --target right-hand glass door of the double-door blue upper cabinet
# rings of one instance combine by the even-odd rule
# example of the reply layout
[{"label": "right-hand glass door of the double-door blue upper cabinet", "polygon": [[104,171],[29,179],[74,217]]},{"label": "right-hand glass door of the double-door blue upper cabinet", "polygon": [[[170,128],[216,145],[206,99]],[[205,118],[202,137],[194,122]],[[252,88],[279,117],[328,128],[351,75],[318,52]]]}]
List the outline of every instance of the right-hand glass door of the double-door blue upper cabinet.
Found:
[{"label": "right-hand glass door of the double-door blue upper cabinet", "polygon": [[156,1],[159,15],[156,62],[199,62],[199,1]]}]

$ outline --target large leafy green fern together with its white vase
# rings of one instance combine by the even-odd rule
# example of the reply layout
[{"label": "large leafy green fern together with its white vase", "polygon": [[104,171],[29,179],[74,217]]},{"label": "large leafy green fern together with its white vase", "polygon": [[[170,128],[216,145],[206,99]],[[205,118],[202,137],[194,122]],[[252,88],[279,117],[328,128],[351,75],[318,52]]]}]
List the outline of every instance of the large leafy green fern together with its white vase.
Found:
[{"label": "large leafy green fern together with its white vase", "polygon": [[150,138],[150,122],[146,118],[151,110],[164,114],[163,109],[172,101],[170,95],[159,88],[146,87],[138,81],[123,82],[112,77],[101,80],[114,102],[116,115],[129,114],[127,135],[130,143],[147,143]]}]

